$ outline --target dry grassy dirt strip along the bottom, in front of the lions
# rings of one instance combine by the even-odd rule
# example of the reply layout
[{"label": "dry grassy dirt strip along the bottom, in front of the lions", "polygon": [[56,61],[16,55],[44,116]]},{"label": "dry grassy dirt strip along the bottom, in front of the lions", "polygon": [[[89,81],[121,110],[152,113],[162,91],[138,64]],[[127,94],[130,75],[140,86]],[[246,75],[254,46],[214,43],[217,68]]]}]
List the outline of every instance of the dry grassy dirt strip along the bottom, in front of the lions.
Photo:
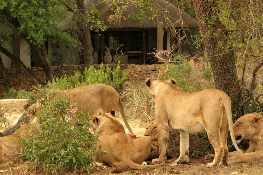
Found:
[{"label": "dry grassy dirt strip along the bottom, in front of the lions", "polygon": [[[157,169],[145,169],[145,170],[128,170],[122,173],[111,173],[110,167],[105,169],[94,169],[90,171],[92,175],[104,175],[104,174],[118,174],[118,175],[170,175],[170,174],[180,174],[180,175],[224,175],[224,174],[237,174],[237,175],[261,175],[263,174],[263,162],[252,162],[252,163],[237,163],[234,165],[229,165],[228,167],[206,167],[205,163],[210,162],[203,159],[190,159],[189,164],[179,164],[174,167],[170,167],[170,160],[164,167]],[[6,164],[4,167],[0,167],[0,175],[2,174],[44,174],[43,172],[36,171],[27,162],[17,162]],[[63,173],[63,174],[75,174],[75,173]]]}]

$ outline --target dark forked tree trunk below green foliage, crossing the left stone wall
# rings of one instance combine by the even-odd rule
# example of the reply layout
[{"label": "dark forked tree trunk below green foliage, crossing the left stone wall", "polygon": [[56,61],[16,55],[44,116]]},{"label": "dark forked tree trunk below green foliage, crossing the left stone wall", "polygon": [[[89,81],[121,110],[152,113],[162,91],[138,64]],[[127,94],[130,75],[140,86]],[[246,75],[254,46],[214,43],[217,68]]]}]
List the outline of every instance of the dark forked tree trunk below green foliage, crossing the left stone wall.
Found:
[{"label": "dark forked tree trunk below green foliage, crossing the left stone wall", "polygon": [[49,81],[52,82],[52,78],[53,78],[52,66],[49,60],[48,53],[46,51],[45,44],[42,44],[41,48],[39,48],[30,42],[27,43],[29,44],[30,49],[32,49],[34,54],[37,55],[38,62],[46,74],[46,82]]}]

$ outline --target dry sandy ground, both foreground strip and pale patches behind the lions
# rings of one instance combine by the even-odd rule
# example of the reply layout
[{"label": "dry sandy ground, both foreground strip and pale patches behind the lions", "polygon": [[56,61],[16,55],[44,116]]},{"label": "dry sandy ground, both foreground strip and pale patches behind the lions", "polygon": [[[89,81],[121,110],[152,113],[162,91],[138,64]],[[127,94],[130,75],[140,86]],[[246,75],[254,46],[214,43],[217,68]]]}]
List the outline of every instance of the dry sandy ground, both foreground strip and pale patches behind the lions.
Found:
[{"label": "dry sandy ground, both foreground strip and pale patches behind the lions", "polygon": [[[2,103],[2,102],[0,102]],[[6,104],[6,116],[12,121],[12,124],[15,124],[20,116],[23,114],[23,103],[24,101],[16,101],[15,103]],[[122,118],[118,117],[118,120],[124,125]],[[136,120],[129,120],[129,124],[133,130],[133,132],[137,136],[143,136],[145,132],[145,128],[142,128],[140,123]],[[127,128],[124,125],[124,128],[127,131]],[[5,128],[1,128],[4,130]],[[237,163],[234,165],[229,165],[228,167],[206,167],[206,163],[210,162],[210,160],[200,159],[190,159],[189,164],[179,164],[174,167],[170,167],[169,163],[173,160],[169,160],[169,162],[161,168],[152,169],[152,170],[128,170],[126,172],[117,173],[120,175],[169,175],[169,174],[181,174],[181,175],[198,175],[198,174],[263,174],[263,162],[252,162],[252,163]],[[43,172],[36,171],[35,167],[33,167],[28,162],[11,162],[7,164],[0,164],[0,175],[2,174],[44,174]],[[74,174],[74,173],[63,173],[63,174]],[[116,174],[110,172],[110,167],[102,169],[101,167],[94,168],[94,170],[90,171],[90,174],[93,175],[104,175],[104,174]]]}]

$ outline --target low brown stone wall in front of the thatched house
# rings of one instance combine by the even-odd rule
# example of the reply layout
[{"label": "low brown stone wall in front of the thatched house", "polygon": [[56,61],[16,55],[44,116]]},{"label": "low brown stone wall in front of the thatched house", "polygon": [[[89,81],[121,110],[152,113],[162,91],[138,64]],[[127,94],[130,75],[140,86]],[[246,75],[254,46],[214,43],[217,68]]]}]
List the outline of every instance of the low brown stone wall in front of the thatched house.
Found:
[{"label": "low brown stone wall in front of the thatched house", "polygon": [[[99,69],[100,65],[94,65],[96,69]],[[116,65],[110,65],[111,67],[116,67]],[[42,82],[45,82],[46,76],[42,68],[32,67],[30,68],[33,74],[39,78]],[[53,66],[54,77],[61,77],[63,75],[73,75],[75,71],[84,71],[85,65],[61,65]],[[144,80],[148,77],[156,78],[160,70],[164,70],[165,67],[160,64],[152,65],[135,65],[135,64],[122,64],[121,70],[124,72],[129,72],[129,78],[127,82],[129,83],[139,83],[144,84]],[[6,69],[6,73],[10,84],[15,89],[25,89],[28,90],[34,82],[27,77],[25,72],[20,68]],[[4,84],[3,76],[0,75],[0,99],[3,99],[4,92],[7,91],[6,85]]]}]

